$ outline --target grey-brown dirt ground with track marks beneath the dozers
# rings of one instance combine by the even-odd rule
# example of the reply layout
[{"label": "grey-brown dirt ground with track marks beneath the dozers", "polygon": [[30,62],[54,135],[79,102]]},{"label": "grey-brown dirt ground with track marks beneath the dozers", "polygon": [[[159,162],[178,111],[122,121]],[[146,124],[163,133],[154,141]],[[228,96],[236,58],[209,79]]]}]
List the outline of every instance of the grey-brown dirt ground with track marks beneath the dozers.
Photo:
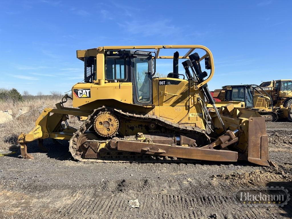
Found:
[{"label": "grey-brown dirt ground with track marks beneath the dozers", "polygon": [[[275,167],[240,161],[103,164],[71,160],[68,145],[46,141],[0,157],[0,218],[291,218],[292,204],[241,207],[240,187],[283,186],[292,194],[292,123],[267,123]],[[129,200],[138,199],[139,208]]]}]

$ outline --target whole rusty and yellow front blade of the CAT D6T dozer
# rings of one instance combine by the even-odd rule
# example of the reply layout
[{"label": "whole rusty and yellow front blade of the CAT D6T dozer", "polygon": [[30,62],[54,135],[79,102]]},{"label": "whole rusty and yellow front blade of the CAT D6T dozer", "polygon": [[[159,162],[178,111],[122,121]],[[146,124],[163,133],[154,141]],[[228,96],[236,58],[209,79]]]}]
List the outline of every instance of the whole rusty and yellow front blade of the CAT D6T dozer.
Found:
[{"label": "whole rusty and yellow front blade of the CAT D6T dozer", "polygon": [[[269,161],[268,136],[264,117],[254,110],[236,108],[233,104],[221,107],[219,113],[227,129],[239,130],[238,142],[228,147],[230,150],[239,152],[239,160],[248,160],[262,166],[274,165]],[[214,113],[212,119],[215,127],[220,127],[220,122]],[[216,131],[220,133],[224,130],[219,128]]]}]

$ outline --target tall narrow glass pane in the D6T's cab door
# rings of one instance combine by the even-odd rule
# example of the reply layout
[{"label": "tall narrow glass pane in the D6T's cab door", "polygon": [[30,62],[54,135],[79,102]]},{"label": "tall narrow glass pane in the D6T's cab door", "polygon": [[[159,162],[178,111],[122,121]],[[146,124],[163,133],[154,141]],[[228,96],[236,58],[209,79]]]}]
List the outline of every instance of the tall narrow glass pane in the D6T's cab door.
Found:
[{"label": "tall narrow glass pane in the D6T's cab door", "polygon": [[137,99],[139,102],[150,102],[150,77],[147,58],[134,58],[134,74]]}]

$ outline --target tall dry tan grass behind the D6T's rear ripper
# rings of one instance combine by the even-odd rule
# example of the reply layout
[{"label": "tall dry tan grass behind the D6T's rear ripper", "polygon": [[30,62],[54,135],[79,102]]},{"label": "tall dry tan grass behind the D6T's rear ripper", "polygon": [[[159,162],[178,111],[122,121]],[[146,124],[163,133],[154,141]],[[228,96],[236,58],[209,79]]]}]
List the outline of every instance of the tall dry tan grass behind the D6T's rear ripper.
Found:
[{"label": "tall dry tan grass behind the D6T's rear ripper", "polygon": [[[0,124],[0,151],[2,150],[18,150],[17,136],[20,133],[27,133],[35,126],[35,121],[39,117],[44,108],[56,108],[55,104],[60,102],[61,97],[44,96],[24,101],[0,101],[0,110],[12,109],[13,121],[9,121],[4,124]],[[68,100],[68,104],[64,104],[66,107],[70,107],[72,103]],[[19,117],[16,117],[20,107],[31,107],[31,110]],[[72,126],[78,126],[79,121],[76,117],[70,117],[69,124]]]}]

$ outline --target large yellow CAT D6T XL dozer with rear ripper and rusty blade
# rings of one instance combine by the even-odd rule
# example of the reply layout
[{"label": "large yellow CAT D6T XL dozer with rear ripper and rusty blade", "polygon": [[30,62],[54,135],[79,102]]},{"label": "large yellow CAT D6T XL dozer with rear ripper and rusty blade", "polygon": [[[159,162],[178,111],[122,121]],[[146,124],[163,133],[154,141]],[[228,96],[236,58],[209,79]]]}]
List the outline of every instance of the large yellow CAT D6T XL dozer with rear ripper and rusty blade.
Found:
[{"label": "large yellow CAT D6T XL dozer with rear ripper and rusty blade", "polygon": [[[43,140],[53,138],[69,140],[79,161],[270,164],[265,119],[232,104],[215,107],[207,86],[213,56],[205,46],[104,46],[78,50],[77,58],[84,62],[84,83],[72,87],[74,108],[63,106],[71,98],[65,95],[56,109],[44,109],[35,128],[18,136],[22,157],[32,158],[28,142],[38,140],[46,150]],[[173,72],[155,77],[163,59]],[[83,124],[71,127],[69,115],[84,118]]]}]

